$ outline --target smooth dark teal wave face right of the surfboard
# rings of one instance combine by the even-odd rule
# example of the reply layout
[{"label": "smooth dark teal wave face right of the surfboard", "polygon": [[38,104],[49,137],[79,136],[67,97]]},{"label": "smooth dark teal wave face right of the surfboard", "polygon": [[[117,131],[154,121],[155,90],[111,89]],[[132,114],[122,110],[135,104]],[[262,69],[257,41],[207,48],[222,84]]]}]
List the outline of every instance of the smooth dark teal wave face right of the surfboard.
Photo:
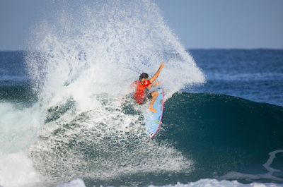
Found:
[{"label": "smooth dark teal wave face right of the surfboard", "polygon": [[[283,107],[187,92],[175,93],[164,106],[163,129],[156,138],[194,161],[192,181],[283,182]],[[276,150],[276,159],[265,164]]]}]

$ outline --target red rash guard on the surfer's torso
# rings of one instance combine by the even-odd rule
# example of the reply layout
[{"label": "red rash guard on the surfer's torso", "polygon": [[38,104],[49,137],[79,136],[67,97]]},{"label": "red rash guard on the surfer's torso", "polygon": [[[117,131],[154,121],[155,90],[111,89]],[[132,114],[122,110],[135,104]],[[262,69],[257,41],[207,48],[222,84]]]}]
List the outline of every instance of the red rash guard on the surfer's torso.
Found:
[{"label": "red rash guard on the surfer's torso", "polygon": [[144,97],[146,97],[144,90],[146,89],[146,86],[150,85],[151,83],[149,80],[146,80],[144,82],[141,82],[140,80],[134,81],[134,83],[131,84],[131,88],[133,88],[133,96],[134,100],[141,104],[141,102],[144,101]]}]

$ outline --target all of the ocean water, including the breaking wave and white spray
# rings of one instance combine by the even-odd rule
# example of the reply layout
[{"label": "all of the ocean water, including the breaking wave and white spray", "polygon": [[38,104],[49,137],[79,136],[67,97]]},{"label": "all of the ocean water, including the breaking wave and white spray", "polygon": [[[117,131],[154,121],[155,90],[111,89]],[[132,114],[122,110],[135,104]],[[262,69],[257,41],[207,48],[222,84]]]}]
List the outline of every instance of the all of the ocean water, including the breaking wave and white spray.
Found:
[{"label": "all of the ocean water, including the breaking wave and white spray", "polygon": [[[151,1],[83,2],[0,52],[1,187],[283,186],[283,49],[185,49]],[[163,61],[149,140],[129,85]]]}]

